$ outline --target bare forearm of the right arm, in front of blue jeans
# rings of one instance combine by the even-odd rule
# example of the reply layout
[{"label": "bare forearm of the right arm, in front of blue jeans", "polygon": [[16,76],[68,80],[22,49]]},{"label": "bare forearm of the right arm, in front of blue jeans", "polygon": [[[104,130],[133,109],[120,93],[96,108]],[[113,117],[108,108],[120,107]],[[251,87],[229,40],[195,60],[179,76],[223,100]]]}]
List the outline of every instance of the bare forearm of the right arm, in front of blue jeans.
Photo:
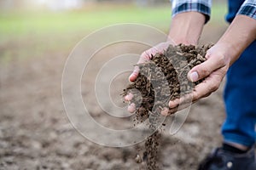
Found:
[{"label": "bare forearm of the right arm, in front of blue jeans", "polygon": [[232,65],[255,39],[256,20],[246,15],[236,15],[235,20],[217,43],[226,47],[224,55],[230,57],[230,65]]}]

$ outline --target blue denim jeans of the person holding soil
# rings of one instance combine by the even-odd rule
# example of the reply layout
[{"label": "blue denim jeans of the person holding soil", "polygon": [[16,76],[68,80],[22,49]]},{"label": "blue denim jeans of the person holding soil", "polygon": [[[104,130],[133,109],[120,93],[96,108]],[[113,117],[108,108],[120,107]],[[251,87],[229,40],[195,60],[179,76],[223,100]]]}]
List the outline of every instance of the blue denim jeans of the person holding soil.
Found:
[{"label": "blue denim jeans of the person holding soil", "polygon": [[[226,20],[234,19],[242,2],[229,1]],[[252,146],[256,139],[256,41],[230,66],[224,103],[227,114],[222,127],[224,141]]]}]

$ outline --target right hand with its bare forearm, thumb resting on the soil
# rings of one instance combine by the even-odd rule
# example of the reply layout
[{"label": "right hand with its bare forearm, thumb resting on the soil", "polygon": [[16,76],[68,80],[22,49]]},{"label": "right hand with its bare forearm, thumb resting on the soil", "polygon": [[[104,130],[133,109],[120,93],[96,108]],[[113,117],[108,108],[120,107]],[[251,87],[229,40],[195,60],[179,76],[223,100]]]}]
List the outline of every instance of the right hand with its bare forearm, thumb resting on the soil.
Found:
[{"label": "right hand with its bare forearm, thumb resting on the soil", "polygon": [[230,65],[239,58],[247,46],[255,41],[256,22],[246,15],[236,15],[231,25],[218,42],[207,51],[207,61],[196,65],[189,71],[188,78],[196,82],[206,78],[195,87],[188,96],[169,102],[169,109],[177,111],[191,105],[198,99],[207,97],[216,91]]}]

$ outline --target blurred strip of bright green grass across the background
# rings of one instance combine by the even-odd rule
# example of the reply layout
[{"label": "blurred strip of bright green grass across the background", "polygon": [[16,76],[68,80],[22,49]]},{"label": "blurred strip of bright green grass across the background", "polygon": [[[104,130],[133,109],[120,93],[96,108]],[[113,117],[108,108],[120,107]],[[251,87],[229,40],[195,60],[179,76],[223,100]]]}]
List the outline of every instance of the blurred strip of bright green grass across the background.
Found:
[{"label": "blurred strip of bright green grass across the background", "polygon": [[[217,4],[212,9],[212,21],[223,19],[225,6]],[[135,6],[107,6],[84,8],[65,12],[9,12],[0,13],[0,37],[26,36],[28,34],[55,34],[93,31],[117,23],[141,23],[167,30],[171,20],[171,5],[156,8]]]}]

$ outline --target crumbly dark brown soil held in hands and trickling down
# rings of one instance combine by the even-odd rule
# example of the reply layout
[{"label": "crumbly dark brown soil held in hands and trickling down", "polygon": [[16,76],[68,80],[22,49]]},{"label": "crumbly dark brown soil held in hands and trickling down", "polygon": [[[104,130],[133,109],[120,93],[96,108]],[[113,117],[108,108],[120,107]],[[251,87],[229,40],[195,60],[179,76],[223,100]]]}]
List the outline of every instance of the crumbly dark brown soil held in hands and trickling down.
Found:
[{"label": "crumbly dark brown soil held in hands and trickling down", "polygon": [[[124,89],[124,96],[131,93],[131,103],[137,105],[134,125],[148,119],[152,135],[146,139],[144,160],[148,169],[157,169],[157,154],[160,142],[160,111],[171,99],[191,93],[198,82],[189,82],[187,75],[192,67],[206,60],[207,49],[212,45],[170,45],[162,54],[155,54],[146,63],[137,65],[140,73],[137,80]],[[138,93],[139,92],[139,93]],[[172,114],[171,111],[169,111]]]}]

